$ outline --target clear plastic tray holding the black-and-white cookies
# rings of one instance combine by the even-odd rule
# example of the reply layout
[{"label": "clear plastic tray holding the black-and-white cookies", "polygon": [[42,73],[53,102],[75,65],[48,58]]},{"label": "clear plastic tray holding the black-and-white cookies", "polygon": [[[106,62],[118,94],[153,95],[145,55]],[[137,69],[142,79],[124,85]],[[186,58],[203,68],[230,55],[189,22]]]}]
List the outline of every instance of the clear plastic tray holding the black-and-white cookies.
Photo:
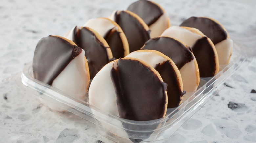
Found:
[{"label": "clear plastic tray holding the black-and-white cookies", "polygon": [[[31,94],[39,96],[63,109],[82,117],[96,126],[99,134],[115,142],[131,142],[130,139],[144,142],[168,140],[205,103],[217,94],[237,73],[252,60],[253,52],[234,42],[233,53],[228,65],[211,78],[201,78],[200,87],[180,106],[168,109],[166,116],[151,121],[132,121],[109,115],[90,103],[70,97],[68,94],[33,78],[32,62],[26,64],[15,80]],[[129,139],[130,138],[130,139]]]}]

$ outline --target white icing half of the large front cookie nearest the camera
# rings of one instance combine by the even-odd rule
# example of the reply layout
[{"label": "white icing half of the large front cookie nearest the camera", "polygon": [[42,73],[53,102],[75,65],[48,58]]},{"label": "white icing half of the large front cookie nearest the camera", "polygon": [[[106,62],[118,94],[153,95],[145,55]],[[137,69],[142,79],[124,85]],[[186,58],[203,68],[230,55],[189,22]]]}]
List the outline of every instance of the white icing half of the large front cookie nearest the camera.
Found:
[{"label": "white icing half of the large front cookie nearest the camera", "polygon": [[[89,89],[89,103],[107,114],[119,117],[116,93],[110,75],[113,64],[114,61],[106,64],[93,78]],[[98,119],[106,129],[118,136],[128,137],[125,130],[105,123],[109,122],[117,125],[118,127],[122,127],[122,123],[119,120],[114,120],[109,116],[104,116],[101,112],[97,112],[93,108],[92,112],[96,119]]]}]

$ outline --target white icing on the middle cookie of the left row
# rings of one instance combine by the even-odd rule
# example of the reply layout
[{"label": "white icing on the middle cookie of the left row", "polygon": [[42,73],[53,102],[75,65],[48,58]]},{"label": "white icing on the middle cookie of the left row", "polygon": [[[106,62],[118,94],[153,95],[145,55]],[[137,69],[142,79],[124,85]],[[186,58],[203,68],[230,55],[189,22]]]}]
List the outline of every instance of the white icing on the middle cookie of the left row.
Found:
[{"label": "white icing on the middle cookie of the left row", "polygon": [[116,27],[111,20],[103,19],[103,18],[93,18],[88,20],[85,24],[85,27],[89,27],[94,29],[96,32],[98,32],[102,37],[106,35],[106,33],[111,30],[112,28]]}]

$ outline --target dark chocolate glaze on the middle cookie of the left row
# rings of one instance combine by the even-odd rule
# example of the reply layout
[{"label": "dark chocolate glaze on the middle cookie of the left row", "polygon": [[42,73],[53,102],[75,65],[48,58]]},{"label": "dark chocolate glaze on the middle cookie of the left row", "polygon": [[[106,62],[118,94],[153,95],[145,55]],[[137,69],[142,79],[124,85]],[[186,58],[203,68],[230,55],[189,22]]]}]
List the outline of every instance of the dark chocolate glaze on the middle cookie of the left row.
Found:
[{"label": "dark chocolate glaze on the middle cookie of the left row", "polygon": [[104,39],[107,41],[113,57],[119,59],[124,57],[124,46],[120,37],[120,32],[117,32],[115,29],[116,28],[109,30],[106,35],[104,35]]}]

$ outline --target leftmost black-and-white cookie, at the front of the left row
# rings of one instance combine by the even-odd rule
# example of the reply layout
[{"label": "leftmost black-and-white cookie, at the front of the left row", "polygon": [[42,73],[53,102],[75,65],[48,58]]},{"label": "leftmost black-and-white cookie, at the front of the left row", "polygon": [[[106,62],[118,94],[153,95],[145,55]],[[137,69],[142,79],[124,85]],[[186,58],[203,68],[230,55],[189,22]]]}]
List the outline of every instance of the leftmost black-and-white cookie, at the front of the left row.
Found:
[{"label": "leftmost black-and-white cookie, at the front of the left row", "polygon": [[[76,99],[85,99],[90,81],[89,68],[84,50],[74,42],[52,35],[42,38],[35,48],[33,73],[35,79]],[[63,111],[51,103],[46,105],[53,110]]]}]

